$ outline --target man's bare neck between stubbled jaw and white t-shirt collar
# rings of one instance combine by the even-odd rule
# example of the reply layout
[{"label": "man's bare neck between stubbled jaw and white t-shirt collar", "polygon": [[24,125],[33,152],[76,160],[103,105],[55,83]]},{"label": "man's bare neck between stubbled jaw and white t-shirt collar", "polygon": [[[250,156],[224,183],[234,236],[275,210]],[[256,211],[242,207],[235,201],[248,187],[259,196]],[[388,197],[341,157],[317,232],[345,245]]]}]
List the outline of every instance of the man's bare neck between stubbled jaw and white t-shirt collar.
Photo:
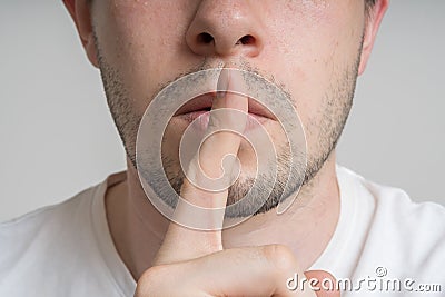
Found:
[{"label": "man's bare neck between stubbled jaw and white t-shirt collar", "polygon": [[[149,202],[136,169],[130,161],[127,164],[127,179],[107,190],[106,211],[116,248],[138,279],[150,267],[169,221]],[[286,212],[277,215],[271,210],[224,230],[224,247],[286,245],[306,270],[326,248],[338,217],[339,189],[333,152]]]}]

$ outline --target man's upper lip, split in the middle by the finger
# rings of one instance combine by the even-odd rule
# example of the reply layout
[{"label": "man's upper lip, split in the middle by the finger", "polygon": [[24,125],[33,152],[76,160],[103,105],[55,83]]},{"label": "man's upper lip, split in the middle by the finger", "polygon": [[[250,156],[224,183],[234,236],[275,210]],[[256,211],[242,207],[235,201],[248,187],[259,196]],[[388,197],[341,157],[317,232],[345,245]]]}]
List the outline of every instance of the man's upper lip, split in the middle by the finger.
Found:
[{"label": "man's upper lip, split in the middle by the finger", "polygon": [[[210,111],[214,99],[216,97],[215,92],[201,95],[195,99],[189,100],[187,103],[181,106],[175,113],[175,116],[186,115],[189,112],[207,110]],[[256,100],[248,98],[249,109],[248,112],[255,116],[269,118],[276,120],[274,113],[271,113],[267,108],[257,102]]]}]

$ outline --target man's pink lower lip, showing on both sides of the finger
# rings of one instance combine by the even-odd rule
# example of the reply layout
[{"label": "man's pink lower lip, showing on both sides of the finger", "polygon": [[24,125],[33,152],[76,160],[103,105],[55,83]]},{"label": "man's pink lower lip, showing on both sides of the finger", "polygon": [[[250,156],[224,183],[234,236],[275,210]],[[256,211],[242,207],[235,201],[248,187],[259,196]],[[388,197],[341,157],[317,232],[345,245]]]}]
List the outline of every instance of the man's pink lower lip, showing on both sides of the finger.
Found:
[{"label": "man's pink lower lip, showing on both sides of the finger", "polygon": [[[176,116],[176,118],[182,119],[190,125],[196,120],[196,126],[201,130],[206,131],[209,120],[210,120],[210,111],[207,110],[199,110],[199,111],[192,111],[184,115]],[[266,117],[261,117],[255,113],[248,113],[248,120],[246,125],[245,132],[251,131],[255,129],[260,128],[266,121],[269,119]]]}]

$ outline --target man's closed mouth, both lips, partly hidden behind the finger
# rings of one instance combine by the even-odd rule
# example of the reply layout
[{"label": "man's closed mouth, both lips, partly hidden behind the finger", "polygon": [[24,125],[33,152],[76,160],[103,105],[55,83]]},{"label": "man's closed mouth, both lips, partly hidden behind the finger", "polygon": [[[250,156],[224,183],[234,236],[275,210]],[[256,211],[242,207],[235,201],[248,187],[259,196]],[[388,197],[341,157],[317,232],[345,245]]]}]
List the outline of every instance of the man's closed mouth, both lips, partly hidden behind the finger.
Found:
[{"label": "man's closed mouth, both lips, partly hidden behind the finger", "polygon": [[[204,126],[202,128],[207,128],[211,106],[215,98],[216,92],[210,92],[196,97],[195,99],[181,106],[176,111],[174,117],[186,120],[189,123],[198,119],[199,121],[201,121],[200,126]],[[274,113],[271,113],[266,107],[251,98],[248,98],[248,116],[247,130],[257,127],[258,122],[263,125],[269,120],[277,120]]]}]

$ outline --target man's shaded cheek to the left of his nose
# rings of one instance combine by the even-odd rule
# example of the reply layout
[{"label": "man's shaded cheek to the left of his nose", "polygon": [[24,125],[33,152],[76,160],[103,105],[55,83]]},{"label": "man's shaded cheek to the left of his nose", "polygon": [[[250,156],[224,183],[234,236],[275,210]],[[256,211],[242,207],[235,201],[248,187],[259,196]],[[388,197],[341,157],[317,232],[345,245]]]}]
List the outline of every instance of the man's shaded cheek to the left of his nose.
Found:
[{"label": "man's shaded cheek to the left of his nose", "polygon": [[167,4],[116,0],[97,10],[100,53],[109,66],[119,70],[137,110],[144,111],[148,98],[181,69],[177,59],[186,28],[179,23],[185,19],[181,4],[181,1]]}]

